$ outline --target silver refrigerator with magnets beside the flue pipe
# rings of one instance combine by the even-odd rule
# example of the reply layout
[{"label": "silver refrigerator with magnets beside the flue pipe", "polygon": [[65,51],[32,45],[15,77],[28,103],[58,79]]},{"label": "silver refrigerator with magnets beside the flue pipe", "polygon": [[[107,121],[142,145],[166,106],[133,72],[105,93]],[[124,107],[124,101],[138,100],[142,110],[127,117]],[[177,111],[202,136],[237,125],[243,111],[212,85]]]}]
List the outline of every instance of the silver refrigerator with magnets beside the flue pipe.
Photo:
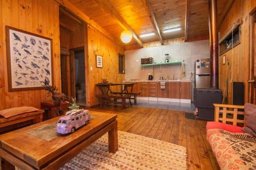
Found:
[{"label": "silver refrigerator with magnets beside the flue pipe", "polygon": [[195,61],[195,87],[210,88],[210,59]]}]

